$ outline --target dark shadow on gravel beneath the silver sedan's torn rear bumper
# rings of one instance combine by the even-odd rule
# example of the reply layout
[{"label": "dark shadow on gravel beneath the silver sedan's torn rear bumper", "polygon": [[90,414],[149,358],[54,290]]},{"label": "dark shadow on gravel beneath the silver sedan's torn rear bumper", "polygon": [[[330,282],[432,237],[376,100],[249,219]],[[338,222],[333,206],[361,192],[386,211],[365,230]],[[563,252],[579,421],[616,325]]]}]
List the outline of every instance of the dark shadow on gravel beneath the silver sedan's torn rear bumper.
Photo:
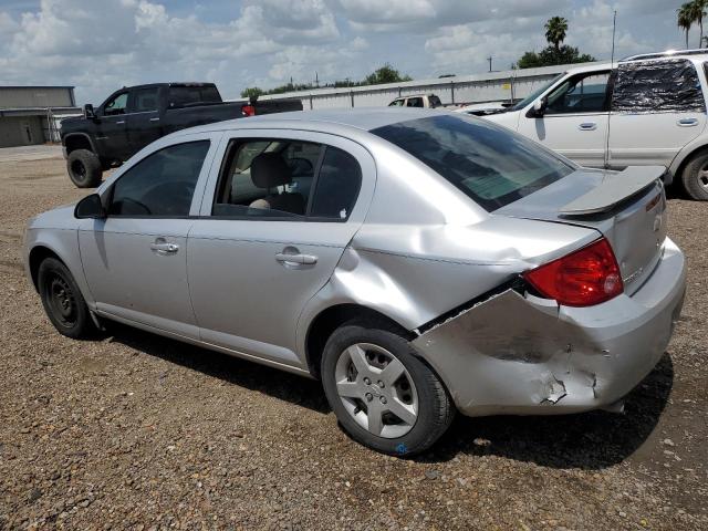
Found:
[{"label": "dark shadow on gravel beneath the silver sedan's torn rear bumper", "polygon": [[674,365],[666,353],[626,397],[625,413],[560,416],[458,416],[423,462],[444,462],[460,452],[499,456],[552,468],[597,470],[616,465],[647,439],[666,407]]}]

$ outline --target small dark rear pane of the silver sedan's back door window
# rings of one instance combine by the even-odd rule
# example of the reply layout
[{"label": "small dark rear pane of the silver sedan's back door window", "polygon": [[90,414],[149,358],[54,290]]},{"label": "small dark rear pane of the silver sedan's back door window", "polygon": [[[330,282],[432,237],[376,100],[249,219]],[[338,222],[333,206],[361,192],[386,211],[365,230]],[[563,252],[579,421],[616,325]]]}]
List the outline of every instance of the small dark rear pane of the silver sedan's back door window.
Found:
[{"label": "small dark rear pane of the silver sedan's back door window", "polygon": [[362,184],[362,168],[348,153],[327,147],[317,175],[311,216],[346,219]]}]

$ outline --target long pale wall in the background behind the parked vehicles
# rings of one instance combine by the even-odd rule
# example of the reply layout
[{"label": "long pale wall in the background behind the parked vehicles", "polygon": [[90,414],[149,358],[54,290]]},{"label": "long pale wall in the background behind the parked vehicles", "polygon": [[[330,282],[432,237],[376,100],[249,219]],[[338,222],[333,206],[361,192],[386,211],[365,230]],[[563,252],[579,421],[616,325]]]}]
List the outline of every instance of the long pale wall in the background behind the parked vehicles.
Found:
[{"label": "long pale wall in the background behind the parked vehicles", "polygon": [[[590,63],[586,63],[590,64]],[[388,105],[400,95],[434,93],[445,104],[482,103],[522,98],[558,74],[580,64],[458,75],[435,80],[409,81],[351,88],[315,88],[261,96],[261,100],[299,97],[305,110],[336,107],[377,107]],[[239,100],[241,101],[241,100]]]}]

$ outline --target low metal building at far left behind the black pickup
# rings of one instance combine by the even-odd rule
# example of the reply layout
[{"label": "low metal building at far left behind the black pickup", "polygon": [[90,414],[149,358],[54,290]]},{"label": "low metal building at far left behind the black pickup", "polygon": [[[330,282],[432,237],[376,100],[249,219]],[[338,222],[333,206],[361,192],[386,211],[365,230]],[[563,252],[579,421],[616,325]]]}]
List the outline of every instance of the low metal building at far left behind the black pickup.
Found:
[{"label": "low metal building at far left behind the black pickup", "polygon": [[80,113],[73,86],[0,86],[0,147],[59,142],[59,122]]}]

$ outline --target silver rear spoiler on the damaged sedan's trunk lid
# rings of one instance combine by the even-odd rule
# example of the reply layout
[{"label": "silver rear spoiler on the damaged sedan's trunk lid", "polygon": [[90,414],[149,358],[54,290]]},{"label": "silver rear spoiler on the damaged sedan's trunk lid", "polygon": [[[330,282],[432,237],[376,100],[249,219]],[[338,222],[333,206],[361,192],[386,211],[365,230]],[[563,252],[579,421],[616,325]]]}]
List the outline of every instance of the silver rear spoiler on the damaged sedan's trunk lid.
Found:
[{"label": "silver rear spoiler on the damaged sedan's trunk lid", "polygon": [[656,183],[665,173],[664,166],[629,166],[623,171],[606,171],[598,186],[562,207],[559,214],[586,216],[612,210],[620,202]]}]

